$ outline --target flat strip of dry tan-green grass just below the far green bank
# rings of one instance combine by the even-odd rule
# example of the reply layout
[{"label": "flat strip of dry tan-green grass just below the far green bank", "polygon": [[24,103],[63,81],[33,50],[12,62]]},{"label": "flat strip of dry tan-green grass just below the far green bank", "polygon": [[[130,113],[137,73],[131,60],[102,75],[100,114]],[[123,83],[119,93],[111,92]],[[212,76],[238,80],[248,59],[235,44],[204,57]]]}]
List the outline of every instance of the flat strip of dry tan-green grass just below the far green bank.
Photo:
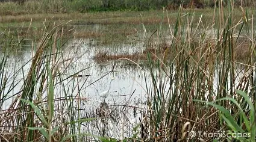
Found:
[{"label": "flat strip of dry tan-green grass just below the far green bank", "polygon": [[[217,9],[218,10],[218,9]],[[213,8],[204,9],[184,9],[180,11],[181,14],[195,13],[196,23],[201,14],[202,22],[204,24],[212,23]],[[241,8],[234,8],[234,20],[238,22],[243,16]],[[167,14],[169,19],[167,19]],[[170,23],[176,22],[178,16],[178,10],[149,10],[149,11],[100,11],[97,13],[34,13],[34,14],[22,14],[22,15],[1,15],[0,24],[5,25],[10,23],[24,22],[25,25],[29,25],[31,20],[33,22],[42,22],[43,20],[72,20],[72,24],[75,25],[92,25],[92,24],[141,24],[145,25],[154,23]],[[250,14],[250,13],[249,13]]]}]

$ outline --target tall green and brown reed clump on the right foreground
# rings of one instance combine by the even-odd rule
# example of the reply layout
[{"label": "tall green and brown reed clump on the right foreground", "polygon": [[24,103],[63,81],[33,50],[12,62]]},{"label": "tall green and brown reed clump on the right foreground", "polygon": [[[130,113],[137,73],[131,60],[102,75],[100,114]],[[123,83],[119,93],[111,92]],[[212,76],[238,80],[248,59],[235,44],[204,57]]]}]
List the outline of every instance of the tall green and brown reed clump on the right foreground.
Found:
[{"label": "tall green and brown reed clump on the right foreground", "polygon": [[[255,36],[249,32],[253,17],[246,11],[235,23],[232,2],[216,10],[211,25],[201,20],[192,25],[193,13],[179,15],[164,55],[153,61],[157,55],[148,54],[152,85],[145,80],[148,111],[140,127],[143,141],[254,141]],[[245,45],[241,39],[250,42]],[[250,52],[240,63],[236,48],[242,45]],[[175,57],[167,58],[172,52]],[[251,137],[209,137],[200,132]]]}]

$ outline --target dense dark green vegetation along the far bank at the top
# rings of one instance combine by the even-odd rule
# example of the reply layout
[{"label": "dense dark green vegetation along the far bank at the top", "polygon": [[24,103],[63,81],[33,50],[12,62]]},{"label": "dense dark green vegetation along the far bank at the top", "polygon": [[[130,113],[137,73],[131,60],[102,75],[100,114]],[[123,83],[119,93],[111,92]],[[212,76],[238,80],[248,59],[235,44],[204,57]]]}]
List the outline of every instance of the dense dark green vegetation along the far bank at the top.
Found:
[{"label": "dense dark green vegetation along the far bank at the top", "polygon": [[[254,7],[255,1],[233,0],[233,7]],[[143,11],[178,10],[195,8],[226,7],[228,1],[218,0],[1,0],[0,15],[23,15],[42,13],[87,13],[97,11]]]}]

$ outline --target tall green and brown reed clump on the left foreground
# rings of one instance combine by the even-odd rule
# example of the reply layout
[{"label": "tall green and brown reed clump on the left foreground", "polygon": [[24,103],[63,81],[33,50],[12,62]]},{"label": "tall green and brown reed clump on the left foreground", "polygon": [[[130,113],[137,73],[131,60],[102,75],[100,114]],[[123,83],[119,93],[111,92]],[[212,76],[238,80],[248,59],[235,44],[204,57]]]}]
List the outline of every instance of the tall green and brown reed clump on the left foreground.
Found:
[{"label": "tall green and brown reed clump on the left foreground", "polygon": [[[1,48],[1,140],[4,141],[61,141],[76,140],[78,134],[76,124],[93,119],[76,121],[73,114],[75,105],[73,94],[76,79],[64,77],[70,58],[61,54],[63,41],[63,26],[65,23],[45,25],[42,38],[33,46],[33,58],[18,64],[14,61],[14,70],[7,66],[11,61],[11,52],[17,54],[22,44],[4,45]],[[11,42],[12,40],[10,40]],[[9,43],[9,42],[6,42]],[[20,75],[21,78],[20,78]],[[18,90],[18,91],[17,91]],[[66,92],[60,96],[57,90]],[[62,105],[60,105],[62,104]],[[56,106],[60,106],[56,111]],[[71,111],[66,111],[70,110]],[[59,125],[60,124],[60,125]],[[11,134],[11,135],[10,135]],[[80,134],[86,135],[86,134]]]}]

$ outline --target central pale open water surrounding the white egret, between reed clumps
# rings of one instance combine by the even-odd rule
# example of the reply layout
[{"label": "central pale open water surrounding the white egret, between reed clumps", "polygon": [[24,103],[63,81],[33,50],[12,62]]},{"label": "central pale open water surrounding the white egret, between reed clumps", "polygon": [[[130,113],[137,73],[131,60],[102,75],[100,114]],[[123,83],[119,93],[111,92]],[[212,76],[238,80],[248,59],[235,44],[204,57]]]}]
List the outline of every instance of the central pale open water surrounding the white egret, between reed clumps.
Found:
[{"label": "central pale open water surrounding the white egret, between reed clumps", "polygon": [[[123,45],[118,48],[117,53],[115,48],[91,46],[83,40],[74,40],[69,44],[64,49],[64,55],[66,58],[72,58],[72,63],[65,74],[72,75],[83,70],[76,82],[80,87],[78,98],[82,98],[74,102],[76,110],[80,112],[76,117],[98,118],[92,122],[81,123],[83,131],[90,131],[102,137],[131,137],[132,134],[128,130],[139,123],[140,111],[145,108],[145,103],[142,102],[146,101],[148,95],[145,91],[143,73],[149,76],[149,72],[140,67],[125,66],[126,61],[97,63],[92,57],[102,50],[108,50],[113,54],[125,53],[120,51],[132,54],[142,51],[142,48],[129,48],[132,46]],[[69,50],[69,47],[73,49]],[[104,101],[100,94],[108,90],[110,79],[113,77],[115,79],[111,82],[109,96]],[[74,90],[72,93],[78,92]]]}]

